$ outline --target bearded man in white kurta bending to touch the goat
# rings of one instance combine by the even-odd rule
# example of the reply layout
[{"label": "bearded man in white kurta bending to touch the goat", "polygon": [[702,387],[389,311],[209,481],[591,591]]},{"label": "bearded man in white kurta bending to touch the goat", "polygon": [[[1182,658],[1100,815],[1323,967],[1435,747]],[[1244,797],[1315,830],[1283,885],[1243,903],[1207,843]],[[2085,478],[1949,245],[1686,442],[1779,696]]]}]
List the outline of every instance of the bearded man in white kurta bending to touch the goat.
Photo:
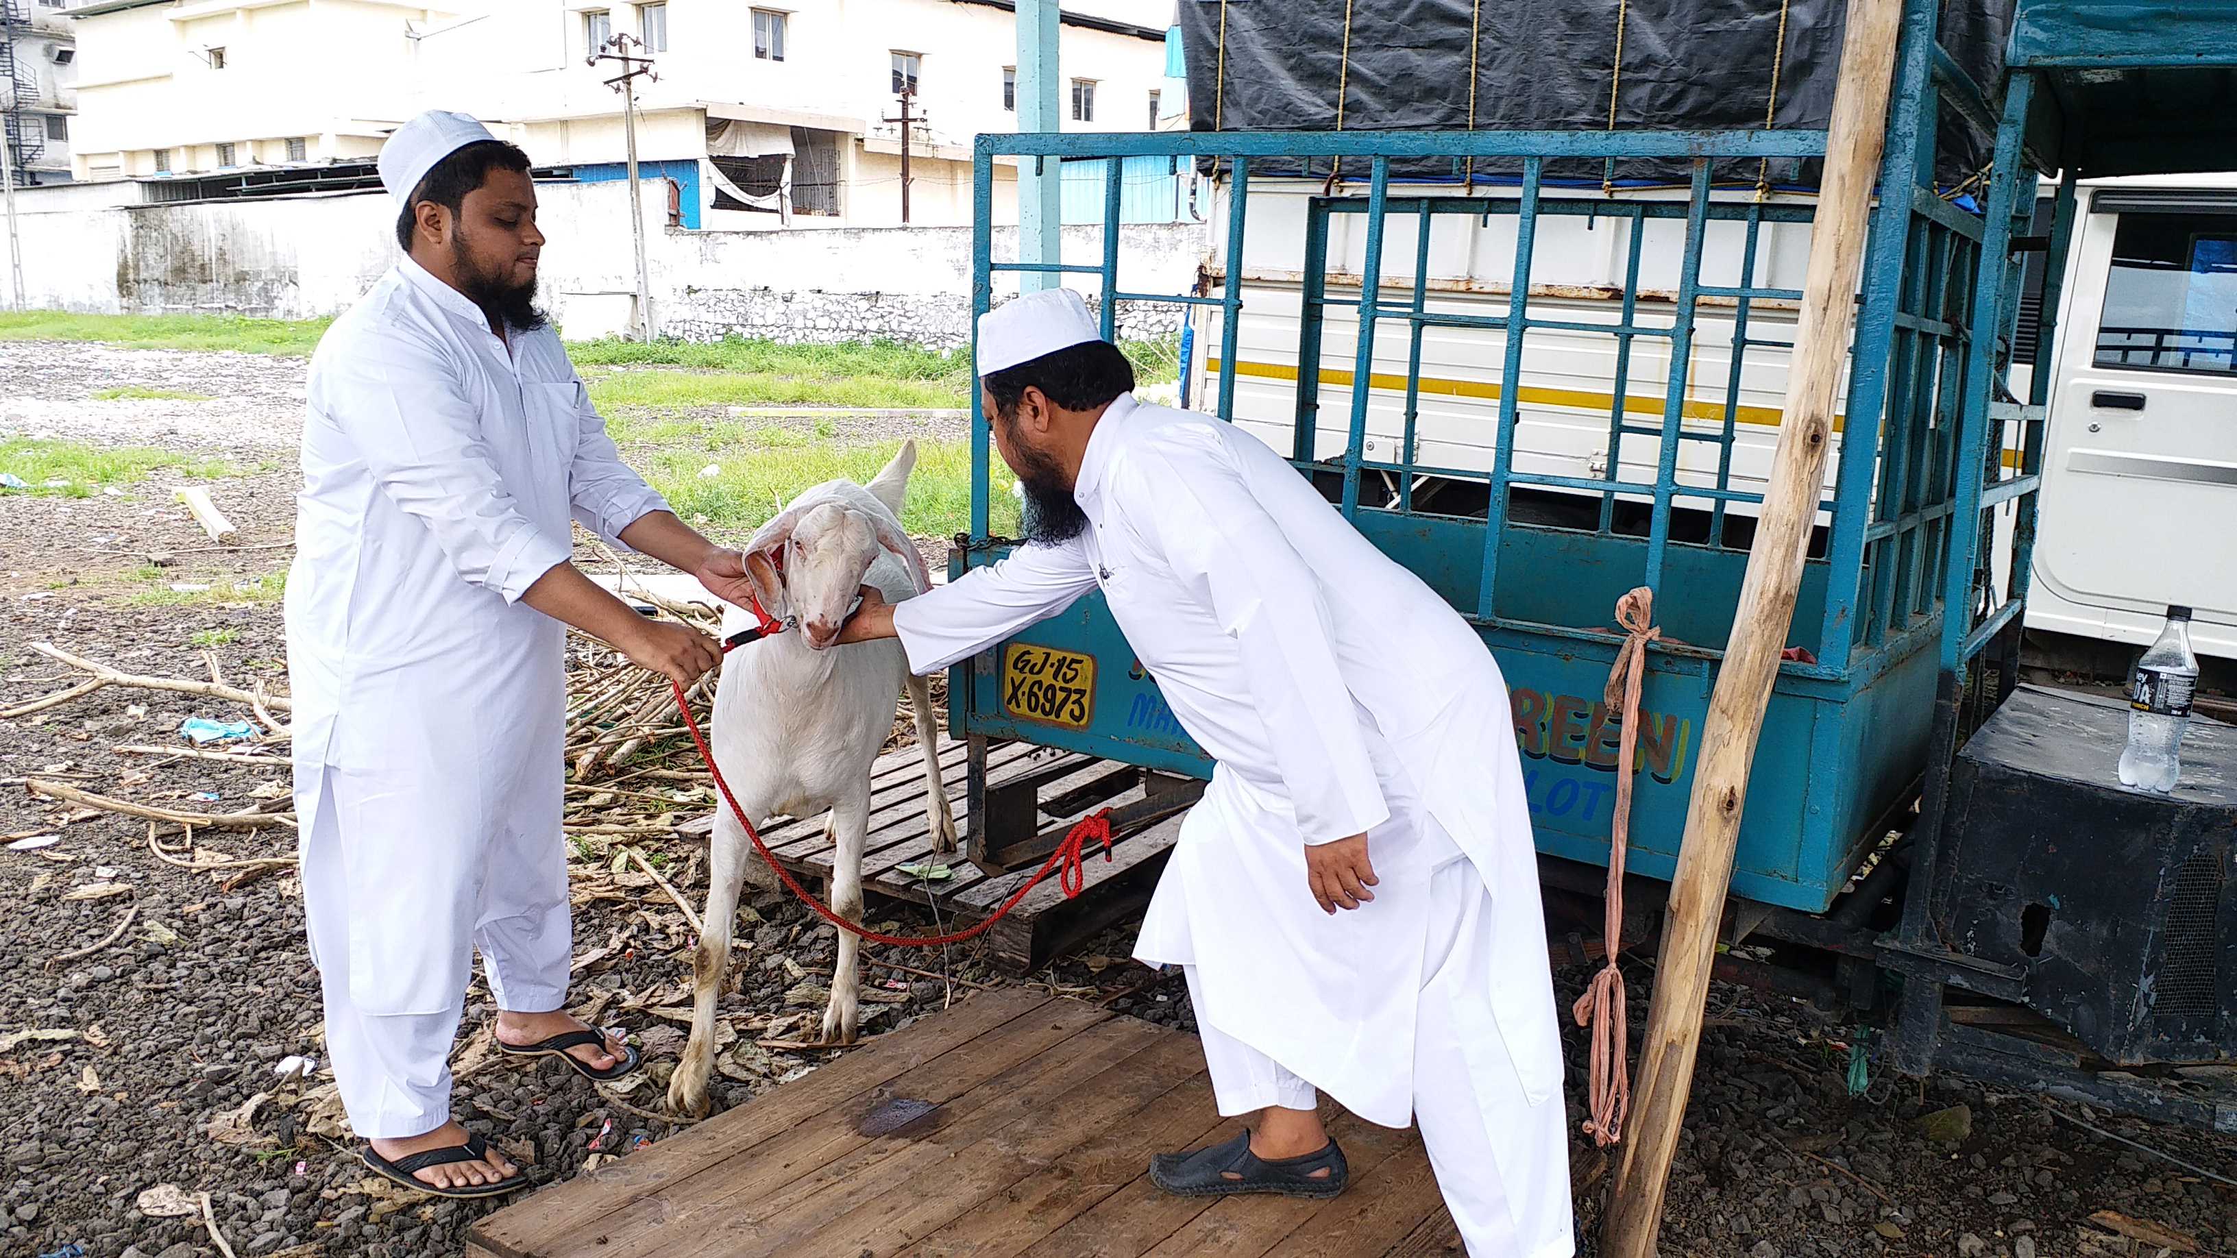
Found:
[{"label": "bearded man in white kurta bending to touch the goat", "polygon": [[[1333,1142],[1309,1148],[1320,1090],[1374,1124],[1420,1124],[1472,1256],[1573,1254],[1561,1048],[1499,667],[1250,434],[1125,392],[1051,398],[1067,385],[1047,381],[1078,392],[1080,345],[1116,354],[1096,336],[1078,295],[1047,291],[984,316],[978,340],[1029,508],[1076,506],[1078,533],[868,609],[843,640],[890,622],[924,674],[1101,589],[1217,761],[1134,956],[1186,969],[1219,1110],[1262,1117],[1248,1157],[1161,1157],[1161,1184],[1340,1186]],[[1074,428],[1085,441],[1067,445]],[[1051,481],[1069,504],[1047,501]],[[1371,873],[1338,886],[1315,853],[1344,844]],[[1315,1135],[1257,1157],[1275,1119]]]}]

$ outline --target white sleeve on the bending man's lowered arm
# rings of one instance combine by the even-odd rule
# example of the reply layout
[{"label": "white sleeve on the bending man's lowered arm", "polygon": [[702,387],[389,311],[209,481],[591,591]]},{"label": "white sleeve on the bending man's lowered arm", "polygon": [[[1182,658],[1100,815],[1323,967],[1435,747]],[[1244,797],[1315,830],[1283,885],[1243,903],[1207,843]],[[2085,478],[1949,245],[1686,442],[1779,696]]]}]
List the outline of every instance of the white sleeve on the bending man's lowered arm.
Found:
[{"label": "white sleeve on the bending man's lowered arm", "polygon": [[1118,492],[1154,501],[1148,522],[1165,562],[1242,647],[1248,703],[1266,725],[1309,846],[1365,835],[1389,817],[1320,582],[1217,448],[1168,459],[1127,452]]}]

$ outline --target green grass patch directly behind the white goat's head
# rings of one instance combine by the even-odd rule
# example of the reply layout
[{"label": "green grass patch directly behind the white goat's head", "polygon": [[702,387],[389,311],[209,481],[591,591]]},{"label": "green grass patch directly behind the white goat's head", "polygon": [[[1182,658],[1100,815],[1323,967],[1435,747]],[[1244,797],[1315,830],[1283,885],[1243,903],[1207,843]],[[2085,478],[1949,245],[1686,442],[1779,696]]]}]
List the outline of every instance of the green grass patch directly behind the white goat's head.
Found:
[{"label": "green grass patch directly behind the white goat's head", "polygon": [[[868,484],[899,441],[837,445],[796,430],[767,428],[736,441],[687,450],[631,452],[631,463],[658,488],[678,515],[723,533],[761,528],[778,501],[792,501],[810,486],[846,477]],[[716,475],[700,475],[707,466]],[[993,528],[1018,533],[1018,499],[1011,475],[993,468]],[[902,526],[917,537],[946,537],[971,524],[971,445],[966,441],[917,441],[917,470],[908,477]]]}]

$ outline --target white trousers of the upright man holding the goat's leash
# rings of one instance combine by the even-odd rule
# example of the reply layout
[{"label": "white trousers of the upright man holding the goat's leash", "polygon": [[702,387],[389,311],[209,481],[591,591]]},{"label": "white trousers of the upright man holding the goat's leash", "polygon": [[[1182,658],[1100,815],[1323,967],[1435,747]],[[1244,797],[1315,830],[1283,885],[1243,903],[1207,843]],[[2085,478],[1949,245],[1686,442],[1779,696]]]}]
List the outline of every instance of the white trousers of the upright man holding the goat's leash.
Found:
[{"label": "white trousers of the upright man holding the goat's leash", "polygon": [[[349,1126],[371,1139],[405,1139],[450,1121],[450,1050],[459,1034],[472,956],[459,956],[456,996],[434,1014],[369,1014],[349,989],[349,873],[342,860],[351,842],[378,835],[344,835],[336,813],[336,790],[320,790],[318,817],[302,835],[302,900],[327,1005],[327,1054],[349,1110]],[[548,893],[553,866],[566,886],[566,848],[497,835],[483,842],[481,895],[472,942],[499,1010],[541,1014],[566,1001],[573,931],[568,902]],[[445,889],[430,886],[427,902],[443,904]]]}]

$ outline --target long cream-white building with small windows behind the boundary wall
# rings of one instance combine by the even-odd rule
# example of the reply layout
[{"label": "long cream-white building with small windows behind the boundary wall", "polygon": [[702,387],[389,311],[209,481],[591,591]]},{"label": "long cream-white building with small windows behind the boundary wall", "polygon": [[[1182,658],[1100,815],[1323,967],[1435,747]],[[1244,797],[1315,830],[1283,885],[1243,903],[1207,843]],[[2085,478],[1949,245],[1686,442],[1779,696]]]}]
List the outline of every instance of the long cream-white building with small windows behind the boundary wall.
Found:
[{"label": "long cream-white building with small windows behind the boundary wall", "polygon": [[[34,0],[0,0],[34,2]],[[1183,125],[1168,74],[1174,0],[1067,9],[1067,130]],[[81,179],[170,177],[183,195],[362,188],[383,137],[423,107],[468,110],[539,170],[624,177],[615,34],[642,40],[640,175],[680,228],[971,222],[971,139],[1016,128],[1011,0],[92,0],[72,9],[85,74]],[[1087,177],[1078,170],[1083,193]],[[1127,172],[1132,222],[1188,217],[1188,172]],[[1009,181],[998,217],[1013,217]],[[1101,181],[1085,199],[1101,197]]]}]

